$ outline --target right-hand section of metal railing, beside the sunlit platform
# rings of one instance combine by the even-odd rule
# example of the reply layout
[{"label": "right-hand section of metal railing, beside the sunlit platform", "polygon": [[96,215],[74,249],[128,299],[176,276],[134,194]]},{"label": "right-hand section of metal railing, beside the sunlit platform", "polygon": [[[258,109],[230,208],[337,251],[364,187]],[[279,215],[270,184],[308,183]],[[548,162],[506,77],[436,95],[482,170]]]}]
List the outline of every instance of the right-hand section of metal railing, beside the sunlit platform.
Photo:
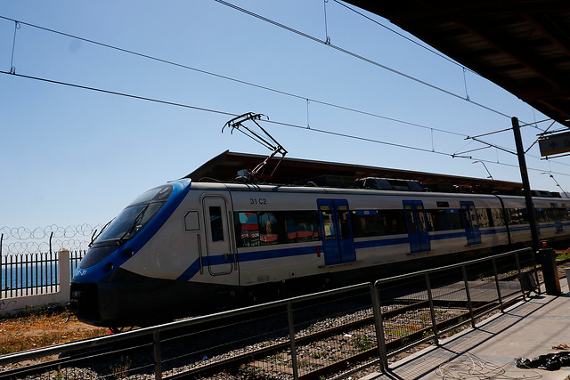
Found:
[{"label": "right-hand section of metal railing, beside the sunlit platform", "polygon": [[[402,284],[408,291],[401,291]],[[526,300],[536,288],[533,284],[538,284],[538,271],[531,248],[379,279],[374,291],[381,310],[377,331],[382,368],[387,370],[388,359],[401,352],[428,341],[437,344],[463,327],[476,327],[477,317]]]}]

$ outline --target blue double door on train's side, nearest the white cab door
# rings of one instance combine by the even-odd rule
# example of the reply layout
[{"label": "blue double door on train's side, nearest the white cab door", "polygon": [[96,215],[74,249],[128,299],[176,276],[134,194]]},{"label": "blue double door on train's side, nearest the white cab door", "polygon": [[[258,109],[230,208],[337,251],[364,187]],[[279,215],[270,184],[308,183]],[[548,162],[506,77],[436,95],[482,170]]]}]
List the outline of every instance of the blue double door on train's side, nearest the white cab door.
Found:
[{"label": "blue double door on train's side, nearest the white cab door", "polygon": [[356,253],[348,202],[344,199],[317,199],[317,206],[325,265],[354,262]]}]

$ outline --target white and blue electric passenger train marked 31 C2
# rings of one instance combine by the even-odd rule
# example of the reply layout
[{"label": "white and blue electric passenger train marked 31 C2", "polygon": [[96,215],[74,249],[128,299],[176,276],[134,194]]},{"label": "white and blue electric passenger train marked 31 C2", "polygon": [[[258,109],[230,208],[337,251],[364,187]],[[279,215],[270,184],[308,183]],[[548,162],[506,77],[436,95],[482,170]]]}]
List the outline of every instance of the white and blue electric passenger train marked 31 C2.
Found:
[{"label": "white and blue electric passenger train marked 31 C2", "polygon": [[[570,238],[570,199],[533,198],[539,236]],[[150,326],[529,245],[525,198],[239,182],[167,182],[92,242],[70,307]]]}]

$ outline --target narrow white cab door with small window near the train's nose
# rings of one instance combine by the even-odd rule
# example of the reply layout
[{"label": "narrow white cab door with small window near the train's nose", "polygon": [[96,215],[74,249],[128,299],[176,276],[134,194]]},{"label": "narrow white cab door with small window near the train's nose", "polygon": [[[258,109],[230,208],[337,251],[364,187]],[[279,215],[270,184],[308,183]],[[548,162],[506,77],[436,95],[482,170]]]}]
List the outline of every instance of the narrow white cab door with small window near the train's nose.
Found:
[{"label": "narrow white cab door with small window near the train's nose", "polygon": [[212,275],[232,272],[234,257],[230,243],[227,204],[223,197],[202,199],[206,226],[206,255]]}]

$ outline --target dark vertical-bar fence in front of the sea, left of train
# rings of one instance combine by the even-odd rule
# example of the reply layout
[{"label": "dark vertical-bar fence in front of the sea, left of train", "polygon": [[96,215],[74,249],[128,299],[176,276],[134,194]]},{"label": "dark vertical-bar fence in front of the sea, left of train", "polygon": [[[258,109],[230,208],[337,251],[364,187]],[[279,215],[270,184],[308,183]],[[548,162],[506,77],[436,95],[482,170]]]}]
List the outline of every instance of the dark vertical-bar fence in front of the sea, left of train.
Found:
[{"label": "dark vertical-bar fence in front of the sea, left of train", "polygon": [[[85,251],[69,252],[71,275]],[[60,284],[58,253],[0,256],[0,298],[53,293]],[[70,280],[70,279],[69,279]]]}]

